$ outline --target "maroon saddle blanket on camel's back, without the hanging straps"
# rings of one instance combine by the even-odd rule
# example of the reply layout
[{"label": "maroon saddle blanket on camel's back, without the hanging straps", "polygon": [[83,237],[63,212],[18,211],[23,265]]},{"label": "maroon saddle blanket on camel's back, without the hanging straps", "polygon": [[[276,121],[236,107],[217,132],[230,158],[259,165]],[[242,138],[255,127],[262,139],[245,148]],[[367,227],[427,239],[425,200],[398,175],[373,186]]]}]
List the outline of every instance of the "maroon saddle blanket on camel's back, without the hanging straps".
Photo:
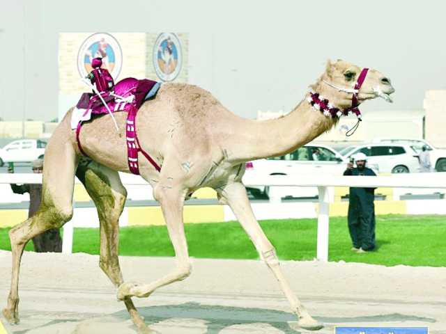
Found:
[{"label": "maroon saddle blanket on camel's back, without the hanging straps", "polygon": [[[125,78],[114,86],[114,95],[106,93],[102,97],[112,112],[129,111],[132,107],[139,109],[144,101],[156,95],[160,85],[160,82],[153,80]],[[108,113],[100,98],[93,93],[83,93],[76,107],[86,109],[87,112],[91,110],[96,115]]]}]

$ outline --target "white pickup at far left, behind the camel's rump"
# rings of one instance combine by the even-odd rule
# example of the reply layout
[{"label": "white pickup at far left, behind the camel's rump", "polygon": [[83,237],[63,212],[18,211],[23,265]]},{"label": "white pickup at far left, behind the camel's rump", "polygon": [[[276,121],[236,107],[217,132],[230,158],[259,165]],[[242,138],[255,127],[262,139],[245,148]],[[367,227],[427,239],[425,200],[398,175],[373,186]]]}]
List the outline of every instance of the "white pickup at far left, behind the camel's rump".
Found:
[{"label": "white pickup at far left, behind the camel's rump", "polygon": [[0,167],[7,162],[30,162],[43,156],[45,141],[22,139],[13,141],[0,149]]}]

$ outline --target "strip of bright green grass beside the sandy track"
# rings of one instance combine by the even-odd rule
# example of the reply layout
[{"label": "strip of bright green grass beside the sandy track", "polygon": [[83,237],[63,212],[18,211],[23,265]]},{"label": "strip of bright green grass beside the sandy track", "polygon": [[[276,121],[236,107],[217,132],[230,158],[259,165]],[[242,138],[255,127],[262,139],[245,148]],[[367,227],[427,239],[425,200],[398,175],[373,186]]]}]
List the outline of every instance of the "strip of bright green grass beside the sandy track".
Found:
[{"label": "strip of bright green grass beside the sandy track", "polygon": [[[316,257],[317,220],[260,221],[281,260]],[[8,229],[0,229],[0,248],[10,250]],[[186,224],[191,257],[258,259],[252,242],[236,221]],[[330,217],[329,260],[395,266],[446,267],[446,216],[387,215],[376,218],[377,249],[351,251],[346,217]],[[32,244],[26,250],[32,250]],[[73,253],[99,253],[99,229],[76,228]],[[120,231],[120,255],[174,256],[166,226],[126,227]]]}]

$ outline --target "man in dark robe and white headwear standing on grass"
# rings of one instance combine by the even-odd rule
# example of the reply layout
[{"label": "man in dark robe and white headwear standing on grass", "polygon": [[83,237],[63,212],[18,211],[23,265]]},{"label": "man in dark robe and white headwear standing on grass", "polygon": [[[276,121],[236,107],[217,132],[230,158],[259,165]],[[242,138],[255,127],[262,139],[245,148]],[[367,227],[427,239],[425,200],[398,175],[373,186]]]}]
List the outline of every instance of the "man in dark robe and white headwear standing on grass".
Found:
[{"label": "man in dark robe and white headwear standing on grass", "polygon": [[[367,155],[355,154],[356,168],[348,163],[344,175],[376,176],[365,166]],[[353,243],[352,250],[364,253],[375,248],[375,188],[350,188],[348,195],[348,231]]]}]

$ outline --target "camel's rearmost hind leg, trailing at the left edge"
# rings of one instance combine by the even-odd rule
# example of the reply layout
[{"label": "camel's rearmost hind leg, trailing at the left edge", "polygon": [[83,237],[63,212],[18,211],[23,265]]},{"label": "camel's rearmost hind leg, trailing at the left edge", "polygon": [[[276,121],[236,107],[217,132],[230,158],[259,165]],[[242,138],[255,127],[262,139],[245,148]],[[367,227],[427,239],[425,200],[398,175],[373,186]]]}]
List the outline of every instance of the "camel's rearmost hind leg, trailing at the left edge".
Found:
[{"label": "camel's rearmost hind leg, trailing at the left edge", "polygon": [[[59,129],[59,131],[58,131]],[[12,273],[8,304],[3,315],[10,324],[19,322],[19,273],[26,243],[50,228],[61,228],[72,217],[72,192],[77,156],[68,134],[59,127],[48,143],[43,169],[42,201],[36,214],[9,232]]]}]

